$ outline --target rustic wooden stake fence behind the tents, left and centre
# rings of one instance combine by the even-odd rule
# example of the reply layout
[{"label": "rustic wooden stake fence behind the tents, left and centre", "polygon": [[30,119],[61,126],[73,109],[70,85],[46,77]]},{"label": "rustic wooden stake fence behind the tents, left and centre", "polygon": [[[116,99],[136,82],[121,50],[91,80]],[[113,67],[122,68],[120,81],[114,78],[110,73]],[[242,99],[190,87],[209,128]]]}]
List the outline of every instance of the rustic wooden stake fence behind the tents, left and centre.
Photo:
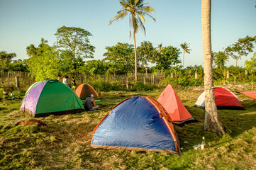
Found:
[{"label": "rustic wooden stake fence behind the tents, left and centre", "polygon": [[[76,74],[76,75],[67,75],[69,77],[69,82],[71,77],[74,77],[77,85],[79,84],[90,84],[92,81],[100,80],[106,81],[110,84],[121,84],[130,88],[135,82],[135,76],[131,74]],[[57,79],[57,77],[55,77]],[[138,73],[138,81],[143,82],[144,84],[155,84],[157,85],[160,80],[165,79],[165,73]],[[28,72],[0,72],[0,88],[18,88],[18,89],[28,89],[30,85],[35,83],[35,79],[31,78]]]}]

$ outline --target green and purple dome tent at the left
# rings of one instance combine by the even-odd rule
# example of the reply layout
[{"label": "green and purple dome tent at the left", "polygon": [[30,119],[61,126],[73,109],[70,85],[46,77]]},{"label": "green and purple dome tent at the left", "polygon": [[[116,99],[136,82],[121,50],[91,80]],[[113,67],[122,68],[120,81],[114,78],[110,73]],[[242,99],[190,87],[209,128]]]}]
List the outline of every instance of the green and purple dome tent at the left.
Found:
[{"label": "green and purple dome tent at the left", "polygon": [[84,111],[84,106],[69,86],[57,80],[46,80],[30,86],[23,98],[20,111],[30,113],[37,118],[79,113]]}]

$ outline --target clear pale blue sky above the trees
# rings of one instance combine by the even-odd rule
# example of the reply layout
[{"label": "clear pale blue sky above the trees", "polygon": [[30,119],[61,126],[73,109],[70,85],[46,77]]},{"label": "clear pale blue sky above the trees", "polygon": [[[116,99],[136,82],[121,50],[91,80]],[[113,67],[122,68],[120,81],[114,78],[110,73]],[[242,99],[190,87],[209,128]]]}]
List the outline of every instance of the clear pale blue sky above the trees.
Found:
[{"label": "clear pale blue sky above the trees", "polygon": [[[201,1],[200,0],[145,0],[155,13],[145,17],[146,36],[136,34],[136,44],[150,41],[154,47],[180,45],[188,42],[191,53],[185,54],[184,67],[202,65]],[[255,0],[213,0],[211,4],[211,45],[214,52],[223,51],[228,45],[246,35],[256,35]],[[28,59],[26,47],[38,47],[41,38],[54,45],[57,28],[78,27],[88,30],[91,45],[96,47],[94,60],[104,59],[106,46],[117,42],[133,45],[129,38],[128,16],[108,26],[121,9],[118,0],[0,0],[0,51],[15,52],[13,60]],[[254,52],[256,52],[256,45]],[[244,67],[251,52],[238,60]],[[182,60],[183,53],[180,55]],[[91,59],[90,59],[91,60]],[[229,59],[227,65],[235,65]]]}]

